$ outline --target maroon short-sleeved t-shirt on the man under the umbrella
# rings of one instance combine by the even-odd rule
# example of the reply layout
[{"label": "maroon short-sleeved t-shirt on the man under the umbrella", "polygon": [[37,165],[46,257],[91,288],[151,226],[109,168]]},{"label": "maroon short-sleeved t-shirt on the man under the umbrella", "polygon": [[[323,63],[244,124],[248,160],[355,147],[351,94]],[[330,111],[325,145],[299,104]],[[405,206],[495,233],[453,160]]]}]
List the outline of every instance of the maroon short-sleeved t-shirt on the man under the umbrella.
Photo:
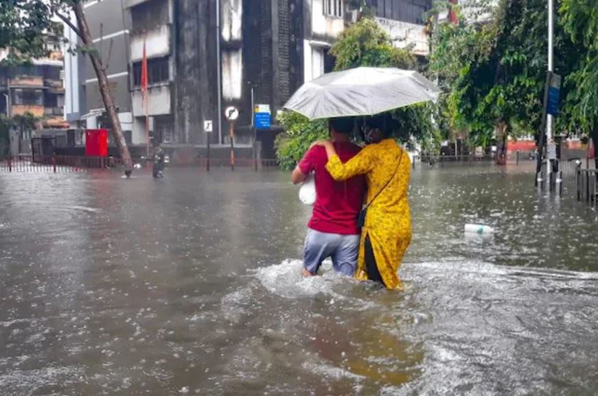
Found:
[{"label": "maroon short-sleeved t-shirt on the man under the umbrella", "polygon": [[[352,143],[334,143],[334,148],[342,162],[360,151]],[[312,147],[299,162],[301,172],[305,175],[314,172],[316,179],[316,203],[308,227],[329,234],[358,235],[357,215],[363,205],[365,177],[336,182],[326,170],[327,162],[326,149],[320,146]]]}]

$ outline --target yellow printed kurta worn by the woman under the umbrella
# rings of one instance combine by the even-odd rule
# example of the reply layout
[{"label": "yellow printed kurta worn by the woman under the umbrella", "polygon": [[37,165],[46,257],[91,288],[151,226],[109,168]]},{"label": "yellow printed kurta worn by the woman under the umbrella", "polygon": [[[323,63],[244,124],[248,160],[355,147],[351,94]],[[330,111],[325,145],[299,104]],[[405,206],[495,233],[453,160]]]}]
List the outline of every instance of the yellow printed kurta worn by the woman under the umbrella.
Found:
[{"label": "yellow printed kurta worn by the woman under the umbrella", "polygon": [[[398,158],[401,158],[397,169]],[[327,171],[335,180],[347,180],[355,175],[365,175],[367,200],[371,199],[392,177],[389,185],[373,201],[367,210],[365,225],[361,232],[359,258],[355,277],[367,280],[365,266],[365,237],[369,236],[378,271],[387,288],[401,288],[398,269],[411,243],[411,213],[407,190],[411,177],[409,155],[393,139],[368,145],[351,160],[341,162],[338,156],[330,158]]]}]

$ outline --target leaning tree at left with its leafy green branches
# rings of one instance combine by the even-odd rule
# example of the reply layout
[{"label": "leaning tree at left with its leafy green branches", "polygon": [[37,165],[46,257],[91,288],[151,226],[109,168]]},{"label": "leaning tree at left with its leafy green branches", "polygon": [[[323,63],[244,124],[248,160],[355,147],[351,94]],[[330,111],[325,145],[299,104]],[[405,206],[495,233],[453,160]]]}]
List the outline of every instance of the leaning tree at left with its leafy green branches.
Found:
[{"label": "leaning tree at left with its leafy green branches", "polygon": [[[72,23],[69,19],[70,12],[75,14],[76,23]],[[71,49],[89,55],[102,101],[111,122],[111,132],[125,163],[125,173],[129,175],[133,170],[133,161],[108,86],[106,66],[102,63],[93,44],[87,18],[83,12],[82,0],[2,0],[0,2],[0,47],[10,50],[9,62],[23,62],[45,55],[47,52],[45,44],[48,38],[63,40],[62,26],[56,22],[56,18],[69,25],[83,42],[82,47],[70,43]]]}]

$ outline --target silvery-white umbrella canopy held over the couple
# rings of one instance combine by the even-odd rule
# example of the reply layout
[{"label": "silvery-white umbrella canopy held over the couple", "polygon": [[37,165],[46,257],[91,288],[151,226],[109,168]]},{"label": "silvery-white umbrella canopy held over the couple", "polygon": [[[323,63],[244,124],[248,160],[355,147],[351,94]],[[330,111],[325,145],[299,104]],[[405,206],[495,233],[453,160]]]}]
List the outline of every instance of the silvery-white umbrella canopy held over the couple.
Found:
[{"label": "silvery-white umbrella canopy held over the couple", "polygon": [[371,116],[435,99],[439,88],[411,70],[358,67],[306,82],[284,108],[308,119]]}]

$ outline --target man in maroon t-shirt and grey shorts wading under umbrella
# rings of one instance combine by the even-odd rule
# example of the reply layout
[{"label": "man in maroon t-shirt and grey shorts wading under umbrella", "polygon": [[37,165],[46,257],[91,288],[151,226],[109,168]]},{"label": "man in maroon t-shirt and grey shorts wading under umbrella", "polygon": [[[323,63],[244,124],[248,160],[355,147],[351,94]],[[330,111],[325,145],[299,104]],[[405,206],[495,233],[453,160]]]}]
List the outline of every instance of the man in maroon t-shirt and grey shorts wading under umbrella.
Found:
[{"label": "man in maroon t-shirt and grey shorts wading under umbrella", "polygon": [[[330,119],[328,129],[341,161],[347,162],[360,151],[350,142],[354,120]],[[357,176],[345,182],[336,182],[326,170],[326,149],[314,146],[292,172],[291,181],[304,182],[315,174],[316,203],[308,224],[303,275],[316,275],[323,260],[332,257],[334,270],[353,275],[357,266],[360,230],[357,216],[363,205],[365,177]]]}]

